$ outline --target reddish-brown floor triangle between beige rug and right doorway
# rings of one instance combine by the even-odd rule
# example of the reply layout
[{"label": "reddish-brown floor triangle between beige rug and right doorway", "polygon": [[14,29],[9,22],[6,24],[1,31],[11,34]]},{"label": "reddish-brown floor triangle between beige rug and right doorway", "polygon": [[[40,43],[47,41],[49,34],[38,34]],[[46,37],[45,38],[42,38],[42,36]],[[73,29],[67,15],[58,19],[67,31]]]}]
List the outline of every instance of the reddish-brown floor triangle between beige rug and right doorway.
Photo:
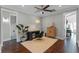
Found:
[{"label": "reddish-brown floor triangle between beige rug and right doorway", "polygon": [[63,53],[64,52],[64,41],[58,40],[54,45],[45,51],[45,53]]}]

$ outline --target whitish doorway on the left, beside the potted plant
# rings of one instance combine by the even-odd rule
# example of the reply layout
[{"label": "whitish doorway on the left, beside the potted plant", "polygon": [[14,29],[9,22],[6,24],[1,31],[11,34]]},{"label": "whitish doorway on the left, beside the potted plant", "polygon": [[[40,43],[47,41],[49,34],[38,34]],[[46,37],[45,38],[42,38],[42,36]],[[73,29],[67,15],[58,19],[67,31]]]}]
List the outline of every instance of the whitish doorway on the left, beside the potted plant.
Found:
[{"label": "whitish doorway on the left, beside the potted plant", "polygon": [[16,12],[1,9],[1,41],[9,41],[16,39]]}]

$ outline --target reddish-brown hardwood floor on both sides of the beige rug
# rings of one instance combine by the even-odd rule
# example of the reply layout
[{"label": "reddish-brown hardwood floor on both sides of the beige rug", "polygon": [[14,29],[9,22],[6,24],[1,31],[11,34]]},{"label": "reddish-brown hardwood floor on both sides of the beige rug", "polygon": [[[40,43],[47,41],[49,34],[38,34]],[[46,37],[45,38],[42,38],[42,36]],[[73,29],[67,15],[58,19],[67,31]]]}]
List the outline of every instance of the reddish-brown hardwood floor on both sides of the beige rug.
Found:
[{"label": "reddish-brown hardwood floor on both sides of the beige rug", "polygon": [[[62,53],[64,47],[64,41],[58,40],[54,45],[49,47],[45,53]],[[30,53],[28,49],[23,47],[20,43],[17,43],[16,40],[6,41],[3,44],[2,53]]]}]

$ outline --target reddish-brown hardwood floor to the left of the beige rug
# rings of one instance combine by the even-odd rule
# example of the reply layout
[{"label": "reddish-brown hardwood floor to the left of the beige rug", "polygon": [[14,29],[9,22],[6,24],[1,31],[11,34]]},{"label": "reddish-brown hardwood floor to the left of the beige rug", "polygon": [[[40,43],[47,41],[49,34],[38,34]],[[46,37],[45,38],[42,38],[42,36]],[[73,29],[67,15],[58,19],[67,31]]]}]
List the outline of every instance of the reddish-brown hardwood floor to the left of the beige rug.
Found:
[{"label": "reddish-brown hardwood floor to the left of the beige rug", "polygon": [[10,40],[4,42],[2,53],[30,53],[30,51],[23,47],[20,43],[17,43],[16,40]]}]

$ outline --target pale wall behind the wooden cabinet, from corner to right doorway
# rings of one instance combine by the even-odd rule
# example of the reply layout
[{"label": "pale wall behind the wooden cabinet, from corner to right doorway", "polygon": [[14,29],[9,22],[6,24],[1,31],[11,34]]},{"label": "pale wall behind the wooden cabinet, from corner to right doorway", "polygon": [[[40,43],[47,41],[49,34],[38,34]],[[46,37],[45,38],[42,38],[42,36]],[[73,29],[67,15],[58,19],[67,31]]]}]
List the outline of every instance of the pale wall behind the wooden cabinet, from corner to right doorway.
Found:
[{"label": "pale wall behind the wooden cabinet, from corner to right doorway", "polygon": [[56,14],[43,18],[43,30],[46,32],[47,27],[51,26],[53,22],[55,23],[55,26],[57,28],[57,38],[65,39],[65,21],[63,14]]}]

